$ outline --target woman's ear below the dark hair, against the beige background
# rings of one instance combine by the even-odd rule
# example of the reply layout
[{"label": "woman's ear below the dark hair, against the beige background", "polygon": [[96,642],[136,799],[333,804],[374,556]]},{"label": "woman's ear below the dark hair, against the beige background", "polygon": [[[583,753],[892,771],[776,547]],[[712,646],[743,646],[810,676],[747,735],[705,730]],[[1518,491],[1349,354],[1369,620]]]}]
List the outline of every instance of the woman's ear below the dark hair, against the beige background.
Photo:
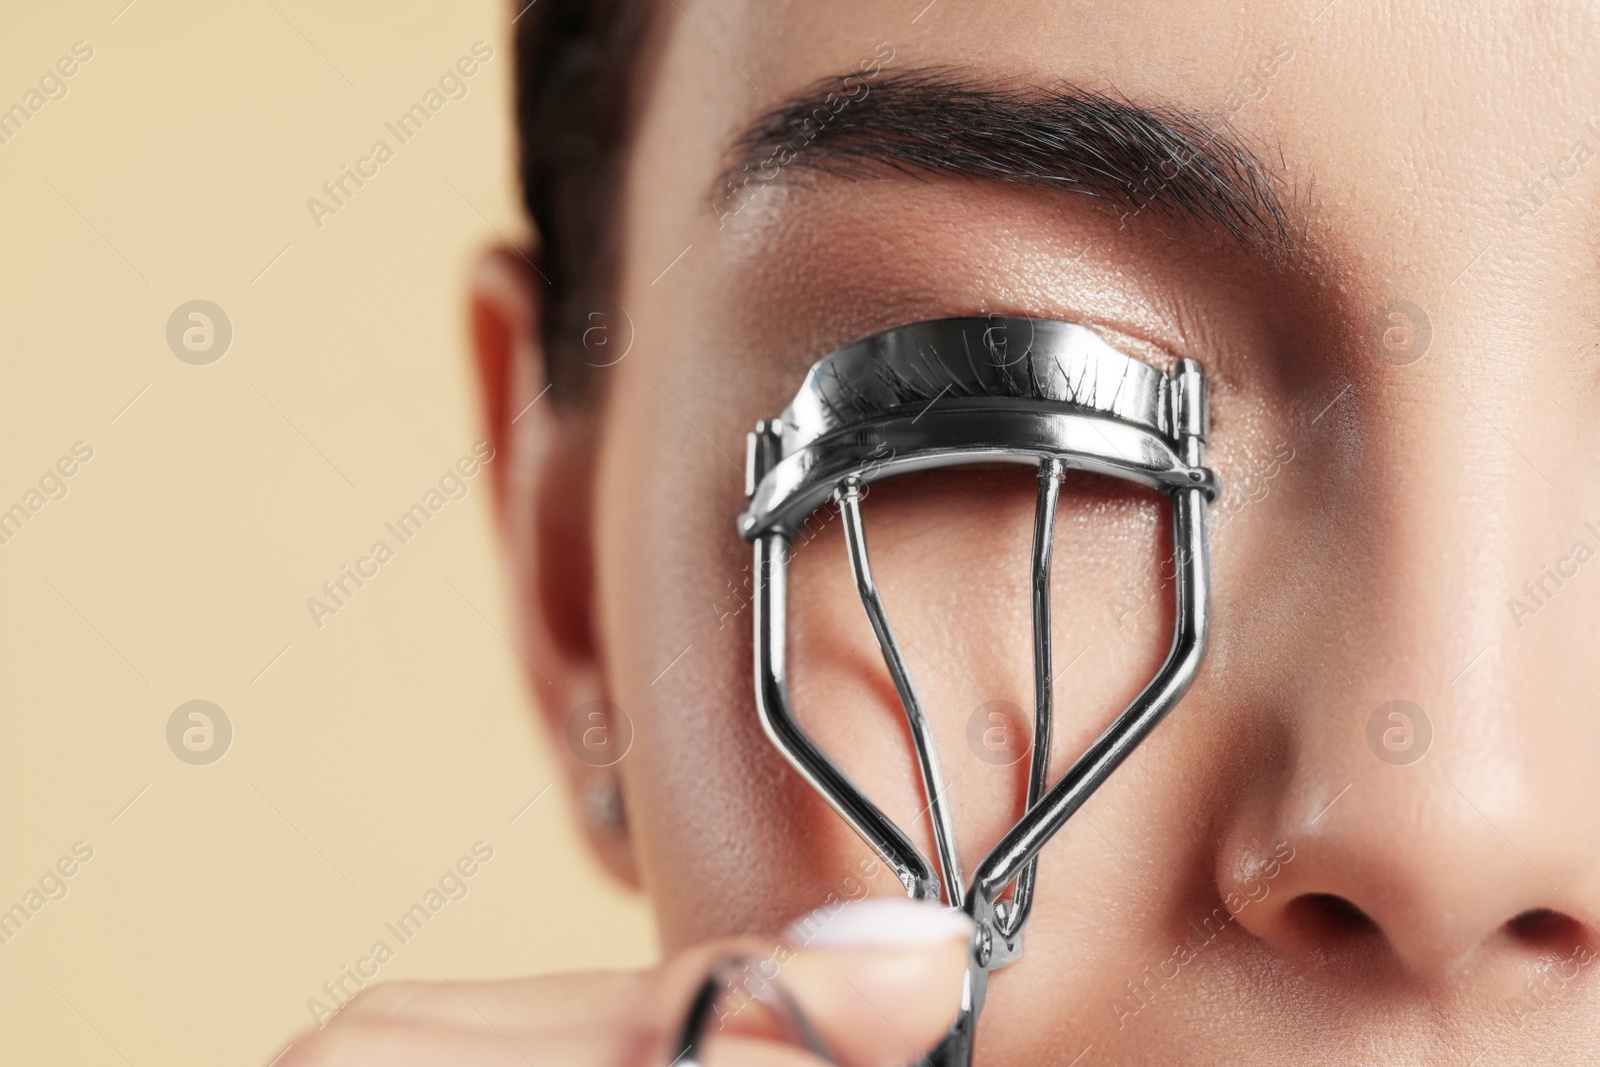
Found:
[{"label": "woman's ear below the dark hair, against the beige background", "polygon": [[[565,411],[547,392],[541,322],[547,283],[517,250],[483,253],[472,274],[472,349],[494,462],[494,514],[512,582],[523,677],[600,862],[638,886],[614,769],[578,758],[568,718],[605,701],[594,625],[597,411]],[[592,726],[590,715],[584,726]],[[576,731],[586,736],[582,729]]]}]

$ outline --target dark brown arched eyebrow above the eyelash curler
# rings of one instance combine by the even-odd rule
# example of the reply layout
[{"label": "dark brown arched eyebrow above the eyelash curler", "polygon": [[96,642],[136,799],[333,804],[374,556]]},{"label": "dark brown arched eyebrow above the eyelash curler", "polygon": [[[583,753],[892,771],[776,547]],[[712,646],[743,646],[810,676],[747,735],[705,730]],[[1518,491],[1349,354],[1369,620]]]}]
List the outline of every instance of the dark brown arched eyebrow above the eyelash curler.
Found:
[{"label": "dark brown arched eyebrow above the eyelash curler", "polygon": [[1278,179],[1238,139],[1178,106],[1074,85],[995,85],[944,67],[824,78],[758,117],[728,158],[718,216],[789,168],[888,168],[1058,189],[1293,246]]}]

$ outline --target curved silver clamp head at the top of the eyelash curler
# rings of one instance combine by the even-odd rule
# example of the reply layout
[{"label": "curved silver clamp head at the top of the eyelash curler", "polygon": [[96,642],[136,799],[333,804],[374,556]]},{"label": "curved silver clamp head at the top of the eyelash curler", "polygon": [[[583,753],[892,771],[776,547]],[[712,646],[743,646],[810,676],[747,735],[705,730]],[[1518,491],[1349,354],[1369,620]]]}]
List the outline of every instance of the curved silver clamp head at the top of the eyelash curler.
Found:
[{"label": "curved silver clamp head at the top of the eyelash curler", "polygon": [[846,346],[806,373],[760,437],[738,522],[746,541],[792,534],[851,477],[869,485],[962,462],[1054,456],[1168,493],[1218,490],[1178,451],[1162,371],[1086,326],[1032,318],[941,318]]}]

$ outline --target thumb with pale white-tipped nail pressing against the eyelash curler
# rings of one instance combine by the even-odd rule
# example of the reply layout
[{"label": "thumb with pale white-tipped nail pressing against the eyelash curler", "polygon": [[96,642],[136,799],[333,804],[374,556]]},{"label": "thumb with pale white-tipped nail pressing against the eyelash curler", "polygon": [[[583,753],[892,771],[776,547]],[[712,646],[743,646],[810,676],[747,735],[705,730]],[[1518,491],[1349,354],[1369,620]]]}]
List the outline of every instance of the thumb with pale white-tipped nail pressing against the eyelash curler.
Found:
[{"label": "thumb with pale white-tipped nail pressing against the eyelash curler", "polygon": [[842,1064],[907,1064],[955,1022],[971,936],[938,904],[853,901],[789,926],[781,981]]}]

